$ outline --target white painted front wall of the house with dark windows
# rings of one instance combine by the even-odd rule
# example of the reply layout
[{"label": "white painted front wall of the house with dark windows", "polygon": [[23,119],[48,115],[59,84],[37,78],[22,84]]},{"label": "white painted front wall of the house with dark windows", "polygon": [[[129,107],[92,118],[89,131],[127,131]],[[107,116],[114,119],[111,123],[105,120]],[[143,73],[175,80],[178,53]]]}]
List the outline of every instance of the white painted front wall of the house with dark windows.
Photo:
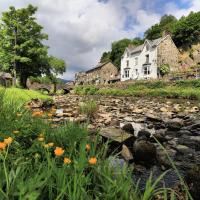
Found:
[{"label": "white painted front wall of the house with dark windows", "polygon": [[[146,62],[146,55],[149,55],[149,65],[150,67],[150,74],[145,75],[144,74],[144,66],[143,64]],[[138,64],[135,65],[135,58],[138,58]],[[125,77],[124,70],[127,68],[127,60],[129,61],[129,77]],[[145,46],[140,53],[135,53],[131,55],[131,52],[129,52],[129,56],[127,55],[127,50],[125,51],[122,59],[121,59],[121,81],[126,80],[141,80],[141,79],[156,79],[157,78],[157,47],[151,48],[149,46],[149,50],[146,50],[146,42]],[[138,71],[138,74],[136,74],[136,70]]]}]

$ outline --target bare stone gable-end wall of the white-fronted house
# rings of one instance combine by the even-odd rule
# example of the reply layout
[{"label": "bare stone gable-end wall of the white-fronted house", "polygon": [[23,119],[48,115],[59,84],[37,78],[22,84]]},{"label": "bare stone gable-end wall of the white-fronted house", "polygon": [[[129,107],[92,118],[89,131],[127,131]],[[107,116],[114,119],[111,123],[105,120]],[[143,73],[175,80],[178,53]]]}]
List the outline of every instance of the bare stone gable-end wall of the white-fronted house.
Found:
[{"label": "bare stone gable-end wall of the white-fronted house", "polygon": [[157,64],[169,64],[171,71],[179,70],[179,51],[170,36],[163,40],[157,49]]}]

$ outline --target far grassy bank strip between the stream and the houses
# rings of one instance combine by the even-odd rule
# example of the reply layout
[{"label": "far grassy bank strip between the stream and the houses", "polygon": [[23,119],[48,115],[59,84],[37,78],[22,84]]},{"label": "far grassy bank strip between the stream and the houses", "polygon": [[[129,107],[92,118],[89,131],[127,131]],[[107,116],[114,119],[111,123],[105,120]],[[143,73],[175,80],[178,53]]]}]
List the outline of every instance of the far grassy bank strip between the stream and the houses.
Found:
[{"label": "far grassy bank strip between the stream and the houses", "polygon": [[199,100],[200,80],[138,81],[124,85],[122,88],[119,88],[118,85],[111,85],[110,87],[77,86],[75,92],[81,95],[147,96]]}]

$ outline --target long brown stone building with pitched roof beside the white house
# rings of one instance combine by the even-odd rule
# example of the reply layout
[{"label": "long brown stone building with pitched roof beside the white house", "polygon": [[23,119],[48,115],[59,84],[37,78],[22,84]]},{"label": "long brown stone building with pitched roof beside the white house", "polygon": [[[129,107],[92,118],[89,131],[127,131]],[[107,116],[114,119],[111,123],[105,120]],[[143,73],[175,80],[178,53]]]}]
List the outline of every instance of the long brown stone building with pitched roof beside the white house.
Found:
[{"label": "long brown stone building with pitched roof beside the white house", "polygon": [[120,80],[118,69],[111,63],[99,63],[96,67],[75,74],[75,83],[77,85],[86,84],[105,84]]}]

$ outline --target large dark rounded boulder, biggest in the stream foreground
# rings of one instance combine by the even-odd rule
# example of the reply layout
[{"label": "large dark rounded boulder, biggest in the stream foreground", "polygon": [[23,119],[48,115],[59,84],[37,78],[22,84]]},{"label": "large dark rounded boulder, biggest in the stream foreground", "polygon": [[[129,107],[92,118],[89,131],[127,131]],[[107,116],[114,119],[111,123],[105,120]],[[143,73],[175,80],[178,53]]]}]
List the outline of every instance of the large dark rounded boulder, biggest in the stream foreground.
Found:
[{"label": "large dark rounded boulder, biggest in the stream foreground", "polygon": [[136,140],[133,145],[135,163],[151,166],[156,160],[156,147],[146,140]]}]

